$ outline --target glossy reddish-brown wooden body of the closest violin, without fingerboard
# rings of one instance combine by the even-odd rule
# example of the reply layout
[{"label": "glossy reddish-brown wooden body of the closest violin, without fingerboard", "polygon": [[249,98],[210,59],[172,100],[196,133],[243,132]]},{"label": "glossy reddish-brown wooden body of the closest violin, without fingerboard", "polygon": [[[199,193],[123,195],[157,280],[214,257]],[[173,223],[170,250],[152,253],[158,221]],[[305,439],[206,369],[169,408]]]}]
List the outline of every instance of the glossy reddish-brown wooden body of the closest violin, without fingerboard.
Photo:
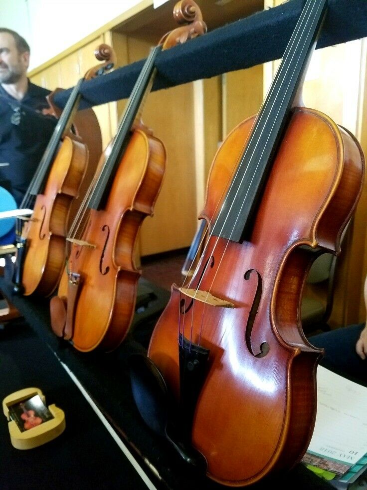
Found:
[{"label": "glossy reddish-brown wooden body of the closest violin, without fingerboard", "polygon": [[[214,158],[200,215],[209,230],[253,122],[239,124]],[[245,486],[290,469],[309,445],[322,351],[302,331],[302,289],[312,250],[340,251],[361,193],[363,163],[350,133],[318,111],[294,109],[250,237],[237,243],[209,235],[191,279],[190,287],[232,307],[172,287],[148,356],[179,402],[178,332],[209,350],[191,444],[204,456],[207,475],[221,484]]]}]

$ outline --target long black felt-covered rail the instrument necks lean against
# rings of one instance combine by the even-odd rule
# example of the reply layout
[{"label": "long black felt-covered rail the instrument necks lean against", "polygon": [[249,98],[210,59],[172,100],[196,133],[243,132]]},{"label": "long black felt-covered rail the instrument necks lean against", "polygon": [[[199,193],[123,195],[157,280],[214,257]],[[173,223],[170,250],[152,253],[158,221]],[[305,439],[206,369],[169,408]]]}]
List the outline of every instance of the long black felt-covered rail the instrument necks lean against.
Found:
[{"label": "long black felt-covered rail the instrument necks lean against", "polygon": [[[305,0],[290,0],[162,51],[156,61],[158,73],[153,90],[281,58],[304,3]],[[317,48],[366,36],[366,0],[329,0]],[[129,97],[143,62],[83,82],[80,108]],[[55,104],[64,107],[70,93],[71,89],[67,89],[55,94]]]}]

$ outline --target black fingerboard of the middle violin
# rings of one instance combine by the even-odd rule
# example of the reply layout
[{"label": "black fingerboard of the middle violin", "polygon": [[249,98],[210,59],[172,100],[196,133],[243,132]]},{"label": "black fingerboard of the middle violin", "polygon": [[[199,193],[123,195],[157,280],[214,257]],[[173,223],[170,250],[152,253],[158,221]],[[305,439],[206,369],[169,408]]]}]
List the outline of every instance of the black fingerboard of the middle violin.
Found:
[{"label": "black fingerboard of the middle violin", "polygon": [[155,60],[162,46],[158,45],[151,50],[143,69],[134,85],[125,112],[119,124],[111,152],[102,168],[101,174],[94,186],[88,207],[91,209],[101,209],[105,205],[108,190],[114,178],[118,164],[130,140],[131,128],[134,124],[139,108],[148,89],[153,83],[156,71]]}]

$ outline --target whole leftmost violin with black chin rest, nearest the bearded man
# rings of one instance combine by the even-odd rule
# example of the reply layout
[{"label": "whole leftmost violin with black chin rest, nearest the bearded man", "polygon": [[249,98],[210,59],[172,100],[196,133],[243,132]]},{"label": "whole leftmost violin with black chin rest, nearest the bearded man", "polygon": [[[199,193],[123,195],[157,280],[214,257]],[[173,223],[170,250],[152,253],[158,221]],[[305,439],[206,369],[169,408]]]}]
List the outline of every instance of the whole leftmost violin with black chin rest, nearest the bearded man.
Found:
[{"label": "whole leftmost violin with black chin rest, nearest the bearded man", "polygon": [[[108,73],[115,53],[107,44],[95,51],[103,63],[90,68],[72,90],[55,130],[21,203],[33,209],[22,226],[17,220],[17,256],[13,275],[15,294],[49,296],[56,289],[66,259],[69,214],[87,171],[89,147],[71,131],[84,80]],[[50,112],[57,114],[52,98]],[[92,127],[90,128],[92,130]]]}]

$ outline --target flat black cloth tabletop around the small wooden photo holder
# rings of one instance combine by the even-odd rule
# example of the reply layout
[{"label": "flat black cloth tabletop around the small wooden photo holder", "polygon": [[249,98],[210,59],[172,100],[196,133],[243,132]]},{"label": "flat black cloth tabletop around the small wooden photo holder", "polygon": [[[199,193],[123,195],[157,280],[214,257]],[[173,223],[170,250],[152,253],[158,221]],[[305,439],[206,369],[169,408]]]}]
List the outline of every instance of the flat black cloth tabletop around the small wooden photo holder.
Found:
[{"label": "flat black cloth tabletop around the small wooden photo holder", "polygon": [[0,399],[37,387],[65,413],[66,429],[53,441],[21,451],[0,421],[0,489],[146,489],[131,463],[53,354],[19,322],[0,334]]}]

